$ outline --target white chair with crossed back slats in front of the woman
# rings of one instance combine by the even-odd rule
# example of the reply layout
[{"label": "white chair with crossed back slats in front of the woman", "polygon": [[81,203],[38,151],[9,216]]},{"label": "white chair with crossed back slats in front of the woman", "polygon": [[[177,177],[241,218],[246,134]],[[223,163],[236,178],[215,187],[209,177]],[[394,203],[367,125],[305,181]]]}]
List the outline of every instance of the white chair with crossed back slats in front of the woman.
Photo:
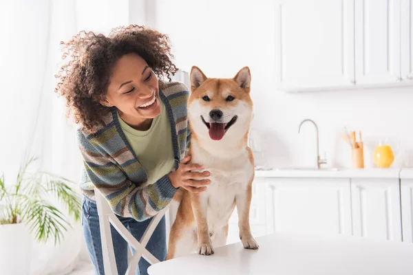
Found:
[{"label": "white chair with crossed back slats in front of the woman", "polygon": [[151,252],[146,249],[146,245],[151,238],[153,231],[155,230],[156,226],[158,225],[160,219],[162,219],[163,215],[167,211],[167,207],[162,209],[156,216],[153,217],[151,223],[145,233],[143,234],[140,241],[136,240],[134,236],[125,228],[123,223],[121,223],[116,217],[116,214],[112,211],[107,203],[105,197],[103,197],[102,193],[98,190],[95,190],[95,197],[96,197],[96,205],[98,207],[98,215],[99,215],[99,225],[100,225],[100,239],[102,240],[102,253],[103,253],[103,264],[105,267],[105,274],[107,275],[118,275],[118,270],[116,268],[116,259],[115,259],[115,252],[114,252],[114,245],[112,242],[112,234],[110,225],[119,232],[123,239],[131,245],[132,248],[135,250],[134,256],[129,259],[129,265],[127,268],[127,275],[134,275],[136,267],[138,267],[138,263],[140,261],[140,257],[143,257],[145,260],[148,261],[151,265],[155,263],[159,263],[159,260],[156,259]]}]

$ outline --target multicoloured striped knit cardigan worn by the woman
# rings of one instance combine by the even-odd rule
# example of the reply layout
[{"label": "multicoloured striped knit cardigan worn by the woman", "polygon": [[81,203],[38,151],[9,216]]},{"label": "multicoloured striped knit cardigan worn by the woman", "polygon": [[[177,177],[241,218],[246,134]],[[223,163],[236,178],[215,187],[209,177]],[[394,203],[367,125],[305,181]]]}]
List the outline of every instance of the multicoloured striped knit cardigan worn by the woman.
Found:
[{"label": "multicoloured striped knit cardigan worn by the woman", "polygon": [[[182,83],[168,83],[160,91],[171,122],[175,167],[184,157],[191,137],[187,120],[189,91]],[[93,135],[77,132],[78,146],[84,160],[80,187],[94,200],[94,188],[103,193],[115,214],[144,221],[165,208],[178,190],[167,175],[154,183],[120,128],[116,107],[105,116],[104,125]],[[172,171],[173,171],[172,170]]]}]

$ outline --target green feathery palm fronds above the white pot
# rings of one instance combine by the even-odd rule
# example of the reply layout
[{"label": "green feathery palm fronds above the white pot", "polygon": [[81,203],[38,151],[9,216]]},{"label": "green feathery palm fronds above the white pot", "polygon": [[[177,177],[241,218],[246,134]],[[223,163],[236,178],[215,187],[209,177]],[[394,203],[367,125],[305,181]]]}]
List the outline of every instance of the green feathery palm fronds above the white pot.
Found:
[{"label": "green feathery palm fronds above the white pot", "polygon": [[0,178],[0,224],[22,220],[39,242],[54,239],[56,245],[71,225],[65,214],[47,200],[49,195],[57,197],[75,221],[81,219],[81,199],[70,180],[39,170],[29,173],[28,167],[35,161],[35,157],[23,160],[10,188],[6,188],[4,177]]}]

